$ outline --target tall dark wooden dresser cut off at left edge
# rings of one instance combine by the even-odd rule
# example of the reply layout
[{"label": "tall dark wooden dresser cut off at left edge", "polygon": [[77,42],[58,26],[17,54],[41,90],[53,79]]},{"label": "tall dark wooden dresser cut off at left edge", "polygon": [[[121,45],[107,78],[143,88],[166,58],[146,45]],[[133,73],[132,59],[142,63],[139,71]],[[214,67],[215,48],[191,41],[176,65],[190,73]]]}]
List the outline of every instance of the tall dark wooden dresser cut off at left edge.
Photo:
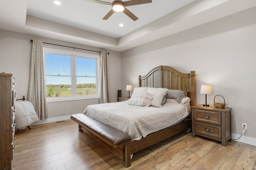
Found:
[{"label": "tall dark wooden dresser cut off at left edge", "polygon": [[0,73],[0,169],[12,169],[15,147],[15,77]]}]

